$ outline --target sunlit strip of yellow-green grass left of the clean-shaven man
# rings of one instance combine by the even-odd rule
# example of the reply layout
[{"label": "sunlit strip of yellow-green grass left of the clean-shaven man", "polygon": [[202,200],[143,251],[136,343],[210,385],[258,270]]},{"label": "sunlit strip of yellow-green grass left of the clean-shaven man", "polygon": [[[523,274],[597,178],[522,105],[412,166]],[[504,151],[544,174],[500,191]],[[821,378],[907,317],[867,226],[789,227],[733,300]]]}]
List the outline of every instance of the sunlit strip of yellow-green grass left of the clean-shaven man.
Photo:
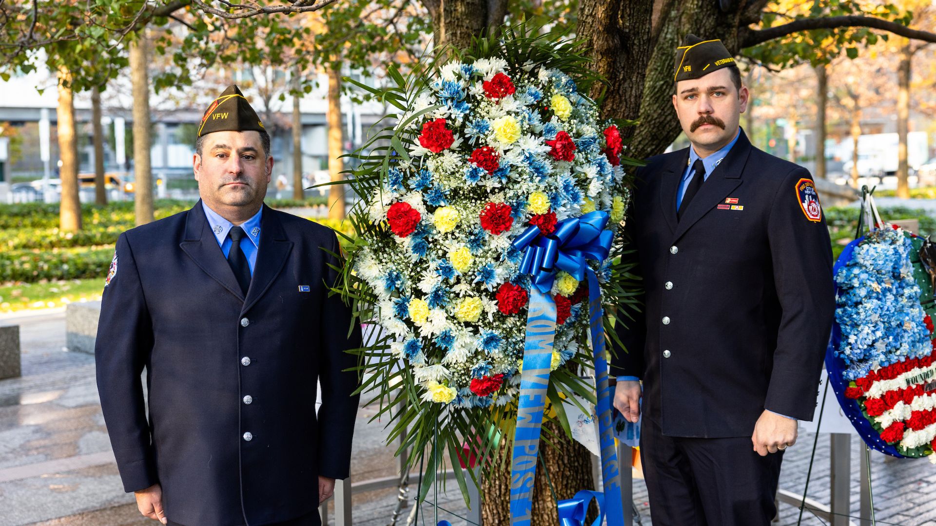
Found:
[{"label": "sunlit strip of yellow-green grass left of the clean-shaven man", "polygon": [[100,300],[103,289],[103,278],[0,285],[0,313]]}]

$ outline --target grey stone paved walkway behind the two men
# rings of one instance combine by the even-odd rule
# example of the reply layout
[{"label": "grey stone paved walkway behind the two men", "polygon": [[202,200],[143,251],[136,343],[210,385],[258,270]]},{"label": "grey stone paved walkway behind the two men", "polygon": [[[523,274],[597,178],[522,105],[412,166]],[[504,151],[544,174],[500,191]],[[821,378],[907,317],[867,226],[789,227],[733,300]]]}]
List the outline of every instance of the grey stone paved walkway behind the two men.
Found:
[{"label": "grey stone paved walkway behind the two men", "polygon": [[[0,526],[144,526],[132,495],[124,493],[101,417],[94,357],[63,350],[65,312],[3,315],[0,324],[21,326],[22,378],[0,381]],[[392,449],[382,424],[369,424],[374,410],[358,413],[352,479],[394,475]],[[804,433],[786,454],[781,488],[801,493],[812,450]],[[853,441],[856,443],[857,441]],[[828,435],[820,435],[809,496],[829,502]],[[858,446],[853,444],[852,513],[858,510]],[[936,465],[926,460],[872,456],[874,503],[879,524],[936,526]],[[412,487],[416,486],[413,481]],[[410,491],[412,497],[413,489]],[[635,504],[645,526],[650,507],[642,481],[634,483]],[[385,526],[397,503],[396,489],[354,495],[354,523]],[[461,493],[450,486],[440,505],[464,513]],[[409,508],[404,511],[408,514]],[[434,519],[430,506],[423,507]],[[795,506],[781,504],[776,524],[797,524]],[[440,513],[453,524],[464,520]],[[405,520],[398,522],[402,526]],[[420,523],[422,520],[419,521]],[[427,523],[431,520],[427,520]],[[333,523],[333,522],[332,522]],[[802,524],[824,524],[804,514]],[[857,520],[855,521],[857,524]]]}]

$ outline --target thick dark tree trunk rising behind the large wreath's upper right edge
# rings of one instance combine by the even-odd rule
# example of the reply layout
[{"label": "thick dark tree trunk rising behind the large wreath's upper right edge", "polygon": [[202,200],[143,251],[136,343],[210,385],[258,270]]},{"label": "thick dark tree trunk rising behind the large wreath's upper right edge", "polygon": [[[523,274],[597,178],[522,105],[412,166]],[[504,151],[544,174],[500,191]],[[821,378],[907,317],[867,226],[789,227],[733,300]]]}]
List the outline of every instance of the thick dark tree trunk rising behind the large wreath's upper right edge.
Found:
[{"label": "thick dark tree trunk rising behind the large wreath's upper right edge", "polygon": [[[636,120],[651,56],[652,2],[582,0],[578,7],[578,36],[592,50],[594,69],[608,81],[602,105],[606,117]],[[672,112],[672,110],[670,110]],[[634,128],[622,129],[626,135]]]}]

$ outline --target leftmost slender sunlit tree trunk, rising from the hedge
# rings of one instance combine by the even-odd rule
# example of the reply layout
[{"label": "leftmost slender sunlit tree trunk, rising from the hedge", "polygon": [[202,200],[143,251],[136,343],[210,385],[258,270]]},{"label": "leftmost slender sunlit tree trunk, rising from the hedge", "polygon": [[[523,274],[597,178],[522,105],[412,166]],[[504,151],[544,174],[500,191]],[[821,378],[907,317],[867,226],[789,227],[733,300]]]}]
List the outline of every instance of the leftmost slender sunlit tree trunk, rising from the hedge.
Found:
[{"label": "leftmost slender sunlit tree trunk, rising from the hedge", "polygon": [[71,72],[59,69],[58,82],[59,178],[62,202],[59,203],[59,228],[64,232],[81,229],[81,203],[78,197],[78,138],[75,136],[75,96],[71,91]]}]

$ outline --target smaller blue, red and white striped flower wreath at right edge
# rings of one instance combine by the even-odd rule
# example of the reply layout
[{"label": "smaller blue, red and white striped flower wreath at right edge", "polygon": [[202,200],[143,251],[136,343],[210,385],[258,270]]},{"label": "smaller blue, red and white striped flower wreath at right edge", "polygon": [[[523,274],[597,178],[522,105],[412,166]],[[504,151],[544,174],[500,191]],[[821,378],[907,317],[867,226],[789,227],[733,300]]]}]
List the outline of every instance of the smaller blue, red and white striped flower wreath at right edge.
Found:
[{"label": "smaller blue, red and white striped flower wreath at right edge", "polygon": [[871,448],[936,463],[936,356],[928,239],[881,221],[869,196],[869,233],[833,270],[836,312],[826,351],[829,383]]}]

